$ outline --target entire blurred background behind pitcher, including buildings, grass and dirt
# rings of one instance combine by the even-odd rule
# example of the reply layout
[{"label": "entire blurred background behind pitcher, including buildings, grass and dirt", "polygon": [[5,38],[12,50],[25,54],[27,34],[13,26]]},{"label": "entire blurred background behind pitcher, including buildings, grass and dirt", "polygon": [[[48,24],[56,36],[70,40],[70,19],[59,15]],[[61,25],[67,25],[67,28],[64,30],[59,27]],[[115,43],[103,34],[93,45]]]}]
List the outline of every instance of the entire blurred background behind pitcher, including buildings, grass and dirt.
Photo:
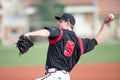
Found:
[{"label": "entire blurred background behind pitcher, including buildings, grass and dirt", "polygon": [[103,42],[81,56],[80,68],[71,72],[71,78],[120,80],[120,0],[0,0],[0,80],[34,80],[44,75],[47,39],[32,37],[35,46],[21,57],[15,43],[24,33],[56,27],[54,16],[63,13],[74,15],[74,31],[82,38],[94,37],[104,17],[115,15]]}]

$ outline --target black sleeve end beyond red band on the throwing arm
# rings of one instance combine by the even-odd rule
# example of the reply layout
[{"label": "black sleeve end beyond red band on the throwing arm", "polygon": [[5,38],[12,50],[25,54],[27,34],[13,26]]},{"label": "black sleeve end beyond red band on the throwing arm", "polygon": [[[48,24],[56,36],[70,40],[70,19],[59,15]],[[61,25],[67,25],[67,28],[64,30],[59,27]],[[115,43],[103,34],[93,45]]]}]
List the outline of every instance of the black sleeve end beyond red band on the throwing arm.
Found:
[{"label": "black sleeve end beyond red band on the throwing arm", "polygon": [[91,51],[97,45],[97,41],[95,39],[85,38],[82,39],[82,41],[84,46],[84,53]]}]

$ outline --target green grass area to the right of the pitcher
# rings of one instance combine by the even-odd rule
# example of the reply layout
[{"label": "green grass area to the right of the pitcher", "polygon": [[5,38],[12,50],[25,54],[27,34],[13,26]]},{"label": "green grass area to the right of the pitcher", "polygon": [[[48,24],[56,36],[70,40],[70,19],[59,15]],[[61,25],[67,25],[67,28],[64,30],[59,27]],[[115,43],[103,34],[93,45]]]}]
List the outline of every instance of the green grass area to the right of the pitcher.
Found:
[{"label": "green grass area to the right of the pitcher", "polygon": [[120,42],[102,43],[93,51],[81,56],[79,63],[120,62]]}]

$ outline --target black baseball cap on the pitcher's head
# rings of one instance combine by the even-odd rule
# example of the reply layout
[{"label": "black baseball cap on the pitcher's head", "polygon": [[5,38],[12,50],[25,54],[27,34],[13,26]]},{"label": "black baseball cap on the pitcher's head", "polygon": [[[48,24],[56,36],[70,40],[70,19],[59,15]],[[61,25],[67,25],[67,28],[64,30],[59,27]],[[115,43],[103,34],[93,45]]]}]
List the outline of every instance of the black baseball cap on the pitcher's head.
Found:
[{"label": "black baseball cap on the pitcher's head", "polygon": [[55,16],[55,19],[60,20],[66,20],[66,21],[70,21],[70,23],[74,26],[75,25],[75,18],[73,15],[69,14],[69,13],[64,13],[61,17]]}]

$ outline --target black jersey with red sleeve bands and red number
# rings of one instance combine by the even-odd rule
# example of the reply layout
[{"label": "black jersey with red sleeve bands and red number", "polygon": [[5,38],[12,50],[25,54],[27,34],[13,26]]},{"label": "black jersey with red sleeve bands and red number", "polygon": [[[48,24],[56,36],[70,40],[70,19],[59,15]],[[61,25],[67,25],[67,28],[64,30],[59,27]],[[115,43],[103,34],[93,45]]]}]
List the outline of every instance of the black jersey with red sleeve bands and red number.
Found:
[{"label": "black jersey with red sleeve bands and red number", "polygon": [[50,36],[46,70],[56,68],[70,72],[80,56],[97,45],[95,39],[82,39],[70,30],[60,28],[47,28],[47,30],[50,32]]}]

